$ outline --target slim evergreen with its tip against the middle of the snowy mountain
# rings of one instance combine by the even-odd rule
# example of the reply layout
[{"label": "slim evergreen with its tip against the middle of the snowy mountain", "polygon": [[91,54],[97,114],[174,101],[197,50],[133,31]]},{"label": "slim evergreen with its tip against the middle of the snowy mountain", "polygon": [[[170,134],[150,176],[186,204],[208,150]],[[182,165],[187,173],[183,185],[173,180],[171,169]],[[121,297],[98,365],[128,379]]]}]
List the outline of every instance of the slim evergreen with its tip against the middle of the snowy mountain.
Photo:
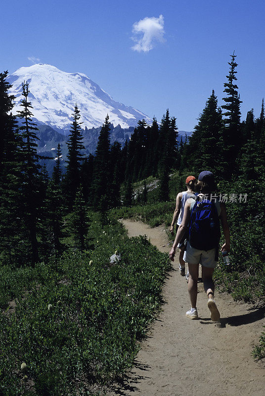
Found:
[{"label": "slim evergreen with its tip against the middle of the snowy mountain", "polygon": [[66,197],[68,199],[68,205],[71,208],[76,196],[76,191],[80,186],[80,173],[81,164],[84,158],[82,150],[85,149],[82,141],[83,136],[81,135],[81,124],[80,111],[78,110],[77,104],[73,114],[74,120],[70,129],[70,135],[67,144],[68,155],[67,155],[67,168],[65,176],[65,188]]}]

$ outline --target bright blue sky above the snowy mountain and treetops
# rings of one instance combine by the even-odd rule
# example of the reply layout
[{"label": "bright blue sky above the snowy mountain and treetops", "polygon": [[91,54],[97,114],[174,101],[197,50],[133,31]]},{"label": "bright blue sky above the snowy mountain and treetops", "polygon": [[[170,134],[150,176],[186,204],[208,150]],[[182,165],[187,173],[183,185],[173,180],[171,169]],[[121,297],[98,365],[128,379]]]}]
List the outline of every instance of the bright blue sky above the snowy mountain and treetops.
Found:
[{"label": "bright blue sky above the snowy mountain and treetops", "polygon": [[191,131],[212,89],[222,104],[235,50],[242,119],[261,112],[262,0],[9,0],[0,12],[0,71],[49,63],[82,72],[158,121],[169,108]]}]

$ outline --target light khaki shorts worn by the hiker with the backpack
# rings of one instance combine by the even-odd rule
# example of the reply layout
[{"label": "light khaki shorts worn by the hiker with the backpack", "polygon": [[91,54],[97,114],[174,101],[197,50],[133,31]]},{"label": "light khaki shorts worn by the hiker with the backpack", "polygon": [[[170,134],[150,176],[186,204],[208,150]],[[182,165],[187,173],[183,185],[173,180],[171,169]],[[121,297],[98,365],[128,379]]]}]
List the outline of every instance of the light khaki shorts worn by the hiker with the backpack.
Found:
[{"label": "light khaki shorts worn by the hiker with the backpack", "polygon": [[203,267],[215,268],[218,261],[215,261],[216,249],[198,250],[190,246],[187,241],[187,248],[184,251],[183,260],[189,264],[201,264]]}]

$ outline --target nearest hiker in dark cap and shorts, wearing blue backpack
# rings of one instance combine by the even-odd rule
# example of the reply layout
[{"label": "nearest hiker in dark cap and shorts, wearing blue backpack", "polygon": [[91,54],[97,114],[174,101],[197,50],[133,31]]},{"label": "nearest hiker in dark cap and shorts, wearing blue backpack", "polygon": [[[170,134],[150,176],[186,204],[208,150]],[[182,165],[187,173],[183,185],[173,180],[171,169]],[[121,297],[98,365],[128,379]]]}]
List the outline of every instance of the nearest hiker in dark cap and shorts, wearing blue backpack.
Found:
[{"label": "nearest hiker in dark cap and shorts, wearing blue backpack", "polygon": [[[199,174],[195,190],[199,192],[196,200],[190,198],[184,207],[183,219],[178,227],[173,247],[169,253],[174,261],[176,247],[188,229],[187,247],[183,259],[188,263],[189,281],[188,292],[191,308],[186,312],[190,319],[198,319],[196,307],[198,293],[199,263],[202,265],[202,281],[208,297],[208,308],[214,322],[220,320],[220,313],[214,300],[215,284],[213,281],[214,269],[218,263],[220,242],[220,219],[225,243],[221,251],[230,251],[229,226],[226,218],[226,209],[223,202],[219,202],[213,193],[216,190],[212,172],[203,171]],[[199,221],[198,221],[199,220]],[[201,223],[201,224],[200,224]]]}]

